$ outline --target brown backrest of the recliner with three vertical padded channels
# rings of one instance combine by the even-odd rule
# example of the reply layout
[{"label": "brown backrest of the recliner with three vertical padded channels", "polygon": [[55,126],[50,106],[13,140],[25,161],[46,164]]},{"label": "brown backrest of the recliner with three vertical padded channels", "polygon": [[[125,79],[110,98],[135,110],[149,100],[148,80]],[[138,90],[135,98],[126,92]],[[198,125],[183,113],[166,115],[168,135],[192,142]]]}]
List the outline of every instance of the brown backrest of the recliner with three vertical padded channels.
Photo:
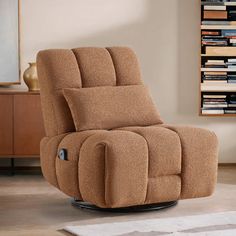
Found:
[{"label": "brown backrest of the recliner with three vertical padded channels", "polygon": [[40,51],[37,70],[47,136],[75,131],[62,89],[142,84],[137,58],[127,47]]}]

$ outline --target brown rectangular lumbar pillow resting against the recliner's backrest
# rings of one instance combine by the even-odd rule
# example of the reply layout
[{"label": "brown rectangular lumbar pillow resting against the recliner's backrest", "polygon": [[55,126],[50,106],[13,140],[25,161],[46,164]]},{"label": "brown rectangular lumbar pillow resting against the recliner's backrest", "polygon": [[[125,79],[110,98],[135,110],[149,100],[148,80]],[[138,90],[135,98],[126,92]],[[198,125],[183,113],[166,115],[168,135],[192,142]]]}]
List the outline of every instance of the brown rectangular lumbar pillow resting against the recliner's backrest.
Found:
[{"label": "brown rectangular lumbar pillow resting against the recliner's backrest", "polygon": [[161,124],[144,85],[64,89],[77,131]]}]

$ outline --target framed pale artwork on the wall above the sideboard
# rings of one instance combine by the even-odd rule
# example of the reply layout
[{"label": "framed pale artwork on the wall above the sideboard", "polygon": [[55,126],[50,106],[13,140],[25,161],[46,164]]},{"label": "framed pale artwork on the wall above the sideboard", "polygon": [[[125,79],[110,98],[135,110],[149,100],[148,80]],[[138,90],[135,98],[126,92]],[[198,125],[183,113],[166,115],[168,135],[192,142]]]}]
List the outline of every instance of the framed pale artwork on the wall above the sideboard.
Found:
[{"label": "framed pale artwork on the wall above the sideboard", "polygon": [[0,85],[20,77],[20,0],[0,0]]}]

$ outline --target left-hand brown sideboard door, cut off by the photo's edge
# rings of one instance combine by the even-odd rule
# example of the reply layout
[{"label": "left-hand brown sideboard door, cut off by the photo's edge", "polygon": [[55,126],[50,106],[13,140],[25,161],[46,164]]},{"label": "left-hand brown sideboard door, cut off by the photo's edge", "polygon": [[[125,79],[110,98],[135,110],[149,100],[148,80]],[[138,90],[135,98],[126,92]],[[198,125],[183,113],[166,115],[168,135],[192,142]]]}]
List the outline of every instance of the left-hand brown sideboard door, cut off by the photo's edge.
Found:
[{"label": "left-hand brown sideboard door, cut off by the photo's edge", "polygon": [[13,96],[0,95],[0,155],[13,154]]}]

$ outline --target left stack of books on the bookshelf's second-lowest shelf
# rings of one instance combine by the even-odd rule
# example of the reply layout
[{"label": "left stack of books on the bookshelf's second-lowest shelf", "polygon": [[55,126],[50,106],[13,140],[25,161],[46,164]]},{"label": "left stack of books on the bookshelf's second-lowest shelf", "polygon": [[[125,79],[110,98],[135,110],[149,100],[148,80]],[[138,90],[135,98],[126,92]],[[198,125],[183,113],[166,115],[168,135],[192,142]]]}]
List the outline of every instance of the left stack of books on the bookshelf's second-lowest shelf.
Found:
[{"label": "left stack of books on the bookshelf's second-lowest shelf", "polygon": [[227,81],[227,72],[224,71],[207,71],[204,72],[203,83],[223,83],[226,84]]}]

